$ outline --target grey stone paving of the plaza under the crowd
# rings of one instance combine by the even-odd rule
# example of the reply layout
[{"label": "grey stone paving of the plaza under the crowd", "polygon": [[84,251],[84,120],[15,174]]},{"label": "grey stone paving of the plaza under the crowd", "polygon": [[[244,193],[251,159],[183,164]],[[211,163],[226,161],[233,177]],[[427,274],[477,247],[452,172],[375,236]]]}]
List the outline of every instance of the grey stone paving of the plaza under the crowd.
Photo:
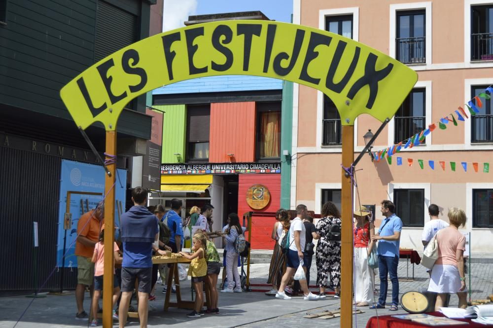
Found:
[{"label": "grey stone paving of the plaza under the crowd", "polygon": [[[251,283],[263,284],[267,279],[269,264],[252,264]],[[412,273],[411,266],[409,268]],[[485,299],[492,293],[493,288],[493,263],[473,263],[472,298]],[[316,270],[312,268],[312,284],[315,284]],[[406,262],[399,263],[399,276],[406,277]],[[377,279],[378,282],[378,279]],[[190,299],[189,281],[183,286],[183,297]],[[425,269],[415,266],[415,280],[400,282],[400,293],[419,291],[427,287],[427,273]],[[258,287],[257,287],[258,288]],[[388,293],[390,295],[390,291]],[[86,297],[87,298],[87,297]],[[0,328],[12,328],[16,321],[26,310],[32,298],[24,296],[0,297]],[[162,311],[164,294],[158,293],[157,300],[150,302],[149,327],[200,327],[200,328],[279,328],[279,327],[339,327],[340,320],[335,319],[305,319],[307,313],[318,313],[324,310],[339,308],[339,300],[329,297],[320,301],[304,301],[301,297],[292,300],[278,300],[263,293],[250,292],[242,294],[220,294],[220,314],[205,316],[200,319],[189,319],[185,315],[188,310],[170,309]],[[389,298],[387,298],[389,301]],[[457,306],[457,296],[451,297],[451,305]],[[89,300],[85,302],[86,310],[89,308]],[[375,310],[367,307],[361,308],[365,313],[358,314],[353,320],[353,327],[365,327],[366,322],[372,316],[377,315]],[[403,313],[399,308],[397,313]],[[74,319],[75,300],[74,295],[51,296],[37,298],[15,326],[17,328],[47,328],[47,327],[87,327],[87,321]],[[379,315],[395,314],[387,309],[379,310]],[[101,326],[100,326],[101,327]],[[115,325],[116,327],[116,325]],[[133,321],[128,327],[139,327],[138,322]]]}]

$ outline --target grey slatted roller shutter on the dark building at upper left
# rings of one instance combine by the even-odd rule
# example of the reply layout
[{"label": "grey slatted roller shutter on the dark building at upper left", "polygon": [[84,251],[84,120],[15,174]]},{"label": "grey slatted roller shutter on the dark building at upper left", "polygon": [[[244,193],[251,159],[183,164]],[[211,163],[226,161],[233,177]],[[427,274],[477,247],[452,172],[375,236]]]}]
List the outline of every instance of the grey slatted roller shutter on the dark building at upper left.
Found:
[{"label": "grey slatted roller shutter on the dark building at upper left", "polygon": [[96,15],[94,62],[138,40],[137,16],[99,0]]}]

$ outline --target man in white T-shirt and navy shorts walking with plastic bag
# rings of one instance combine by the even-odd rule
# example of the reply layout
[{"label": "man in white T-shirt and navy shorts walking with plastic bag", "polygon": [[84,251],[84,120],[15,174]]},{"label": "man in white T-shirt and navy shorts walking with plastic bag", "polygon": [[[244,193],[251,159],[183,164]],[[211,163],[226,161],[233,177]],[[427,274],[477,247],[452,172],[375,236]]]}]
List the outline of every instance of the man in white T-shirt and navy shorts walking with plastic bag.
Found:
[{"label": "man in white T-shirt and navy shorts walking with plastic bag", "polygon": [[[303,250],[305,249],[306,243],[306,229],[303,224],[303,219],[308,217],[308,209],[305,205],[300,204],[296,207],[296,218],[291,221],[291,226],[289,227],[289,250],[286,255],[286,272],[282,276],[281,286],[279,287],[279,291],[276,294],[276,298],[280,299],[291,299],[291,297],[287,296],[284,292],[284,288],[286,287],[289,279],[294,276],[294,273],[298,269],[300,262],[303,260]],[[303,269],[305,270],[306,275],[306,266],[302,264]],[[319,298],[318,295],[312,294],[308,290],[307,280],[300,280],[301,290],[304,293],[303,299],[305,300],[317,300]]]}]

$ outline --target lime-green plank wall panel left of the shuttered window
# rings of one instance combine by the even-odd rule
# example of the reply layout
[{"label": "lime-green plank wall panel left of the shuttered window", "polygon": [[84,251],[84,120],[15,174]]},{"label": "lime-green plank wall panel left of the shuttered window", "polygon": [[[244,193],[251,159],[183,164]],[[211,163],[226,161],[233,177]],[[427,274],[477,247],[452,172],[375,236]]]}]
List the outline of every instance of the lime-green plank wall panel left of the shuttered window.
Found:
[{"label": "lime-green plank wall panel left of the shuttered window", "polygon": [[[185,105],[154,105],[165,111],[163,119],[163,150],[161,163],[179,163],[185,158],[186,108]],[[181,154],[178,158],[175,154]]]}]

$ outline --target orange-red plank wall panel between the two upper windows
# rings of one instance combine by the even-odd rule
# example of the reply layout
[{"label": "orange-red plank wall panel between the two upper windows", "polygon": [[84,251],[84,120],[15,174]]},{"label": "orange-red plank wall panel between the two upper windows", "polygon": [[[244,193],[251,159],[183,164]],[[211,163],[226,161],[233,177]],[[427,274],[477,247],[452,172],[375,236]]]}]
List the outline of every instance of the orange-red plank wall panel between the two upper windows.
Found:
[{"label": "orange-red plank wall panel between the two upper windows", "polygon": [[255,102],[211,104],[209,140],[209,162],[253,162]]}]

